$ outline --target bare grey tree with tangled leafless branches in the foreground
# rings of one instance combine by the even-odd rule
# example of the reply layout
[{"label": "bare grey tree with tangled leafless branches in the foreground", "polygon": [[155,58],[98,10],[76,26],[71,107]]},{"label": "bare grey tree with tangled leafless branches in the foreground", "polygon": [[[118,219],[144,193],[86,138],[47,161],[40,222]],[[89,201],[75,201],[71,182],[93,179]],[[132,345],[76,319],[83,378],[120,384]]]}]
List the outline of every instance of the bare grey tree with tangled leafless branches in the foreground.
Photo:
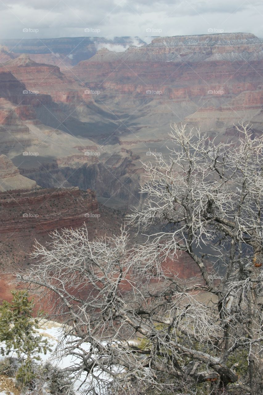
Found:
[{"label": "bare grey tree with tangled leafless branches in the foreground", "polygon": [[[143,245],[123,229],[90,241],[85,228],[36,245],[20,279],[65,314],[60,353],[76,357],[68,370],[86,374],[87,393],[263,393],[263,138],[237,130],[235,145],[173,126],[130,216]],[[164,265],[180,252],[200,272],[188,284]]]}]

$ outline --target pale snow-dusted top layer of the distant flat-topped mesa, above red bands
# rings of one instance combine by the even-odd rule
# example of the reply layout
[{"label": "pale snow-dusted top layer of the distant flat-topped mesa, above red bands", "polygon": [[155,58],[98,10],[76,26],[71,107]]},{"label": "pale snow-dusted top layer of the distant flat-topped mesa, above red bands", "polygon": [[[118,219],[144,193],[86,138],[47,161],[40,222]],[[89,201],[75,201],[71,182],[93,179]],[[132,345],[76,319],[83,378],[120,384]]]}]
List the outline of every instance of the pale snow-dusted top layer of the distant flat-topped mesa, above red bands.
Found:
[{"label": "pale snow-dusted top layer of the distant flat-topped mesa, above red bands", "polygon": [[120,59],[127,60],[129,63],[134,61],[183,63],[204,60],[237,61],[241,58],[262,60],[262,45],[263,40],[250,33],[158,37],[148,45],[130,46],[120,53],[109,51],[107,47],[103,48],[90,58],[90,61],[103,63]]}]

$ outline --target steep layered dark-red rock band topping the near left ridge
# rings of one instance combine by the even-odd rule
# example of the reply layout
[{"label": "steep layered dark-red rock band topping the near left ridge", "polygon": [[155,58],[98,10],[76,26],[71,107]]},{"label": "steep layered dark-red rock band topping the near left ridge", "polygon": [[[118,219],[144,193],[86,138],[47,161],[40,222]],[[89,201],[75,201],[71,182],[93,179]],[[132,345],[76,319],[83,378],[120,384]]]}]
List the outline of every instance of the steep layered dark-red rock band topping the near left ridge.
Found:
[{"label": "steep layered dark-red rock band topping the near left ridge", "polygon": [[61,190],[17,190],[0,194],[0,233],[14,233],[21,237],[34,232],[43,233],[67,227],[78,228],[88,220],[88,214],[98,214],[98,201],[93,191],[79,188]]}]

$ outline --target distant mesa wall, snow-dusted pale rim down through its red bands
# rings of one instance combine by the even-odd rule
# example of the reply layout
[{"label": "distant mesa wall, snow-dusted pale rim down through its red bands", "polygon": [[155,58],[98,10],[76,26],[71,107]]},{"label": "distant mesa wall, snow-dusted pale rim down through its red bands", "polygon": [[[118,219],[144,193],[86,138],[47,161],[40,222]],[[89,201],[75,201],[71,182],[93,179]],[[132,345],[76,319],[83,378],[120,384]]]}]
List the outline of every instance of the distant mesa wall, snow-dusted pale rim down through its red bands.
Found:
[{"label": "distant mesa wall, snow-dusted pale rim down through its red bands", "polygon": [[[103,87],[105,97],[120,106],[129,95],[134,103],[199,100],[200,107],[208,102],[218,108],[242,92],[262,89],[262,63],[263,40],[233,33],[156,38],[123,53],[102,49],[73,71],[87,85]],[[251,108],[254,104],[261,105],[258,92]],[[240,100],[239,105],[247,103]]]}]

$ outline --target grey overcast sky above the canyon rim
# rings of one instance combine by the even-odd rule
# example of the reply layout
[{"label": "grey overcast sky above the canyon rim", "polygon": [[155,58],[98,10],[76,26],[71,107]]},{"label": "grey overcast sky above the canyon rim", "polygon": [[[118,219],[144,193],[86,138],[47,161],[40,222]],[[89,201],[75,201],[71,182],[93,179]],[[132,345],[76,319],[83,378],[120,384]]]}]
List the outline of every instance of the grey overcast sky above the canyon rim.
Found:
[{"label": "grey overcast sky above the canyon rim", "polygon": [[145,39],[209,32],[263,38],[263,0],[0,0],[0,19],[1,38]]}]

